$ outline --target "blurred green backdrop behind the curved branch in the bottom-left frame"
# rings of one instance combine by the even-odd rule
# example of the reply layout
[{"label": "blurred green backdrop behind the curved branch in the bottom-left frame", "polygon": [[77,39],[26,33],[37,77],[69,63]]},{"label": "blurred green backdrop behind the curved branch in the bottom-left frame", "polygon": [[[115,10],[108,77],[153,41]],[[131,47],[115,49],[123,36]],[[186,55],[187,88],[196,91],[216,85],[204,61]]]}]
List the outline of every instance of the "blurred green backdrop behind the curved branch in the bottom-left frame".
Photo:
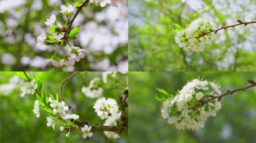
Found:
[{"label": "blurred green backdrop behind the curved branch in the bottom-left frame", "polygon": [[[61,82],[72,74],[72,72],[29,73],[32,76],[37,73],[40,79],[44,81],[43,89],[46,93],[52,95],[58,93],[59,99]],[[89,81],[94,77],[101,78],[101,74],[102,72],[80,72],[63,86],[65,104],[74,108],[75,114],[80,116],[79,121],[85,120],[91,125],[96,123],[103,125],[103,120],[97,116],[92,108],[97,99],[87,98],[82,93],[82,86],[88,86]],[[118,77],[118,80],[126,83],[127,76],[119,75]],[[82,134],[71,131],[70,136],[66,137],[66,133],[60,131],[60,126],[63,126],[62,121],[56,120],[55,130],[53,130],[52,127],[46,126],[48,114],[41,111],[39,118],[34,116],[33,104],[36,95],[25,95],[23,98],[19,96],[19,87],[23,86],[23,80],[14,76],[14,72],[0,72],[0,79],[0,143],[126,143],[128,140],[128,133],[118,133],[120,138],[116,140],[107,139],[103,132],[93,133],[92,137],[83,139]],[[118,85],[108,79],[108,84],[103,87],[108,88]],[[118,102],[125,89],[123,86],[119,86],[119,88],[104,90],[103,96],[111,97]]]}]

